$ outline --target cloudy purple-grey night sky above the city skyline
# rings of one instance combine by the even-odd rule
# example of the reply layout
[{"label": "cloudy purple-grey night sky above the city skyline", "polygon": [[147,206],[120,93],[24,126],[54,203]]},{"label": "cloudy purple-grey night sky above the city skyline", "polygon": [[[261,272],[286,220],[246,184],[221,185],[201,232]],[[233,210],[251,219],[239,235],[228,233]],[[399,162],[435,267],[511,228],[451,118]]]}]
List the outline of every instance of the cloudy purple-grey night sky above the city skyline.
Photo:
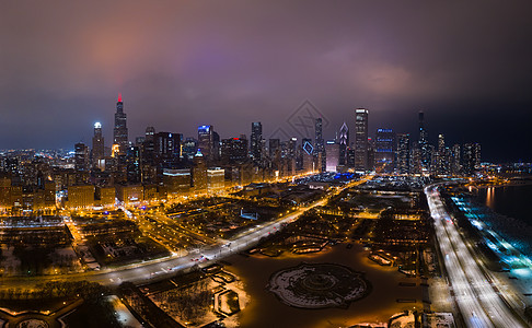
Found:
[{"label": "cloudy purple-grey night sky above the city skyline", "polygon": [[90,144],[95,121],[108,145],[122,93],[131,140],[301,137],[309,99],[326,139],[357,107],[417,139],[423,109],[433,142],[532,161],[530,1],[286,2],[0,2],[0,149]]}]

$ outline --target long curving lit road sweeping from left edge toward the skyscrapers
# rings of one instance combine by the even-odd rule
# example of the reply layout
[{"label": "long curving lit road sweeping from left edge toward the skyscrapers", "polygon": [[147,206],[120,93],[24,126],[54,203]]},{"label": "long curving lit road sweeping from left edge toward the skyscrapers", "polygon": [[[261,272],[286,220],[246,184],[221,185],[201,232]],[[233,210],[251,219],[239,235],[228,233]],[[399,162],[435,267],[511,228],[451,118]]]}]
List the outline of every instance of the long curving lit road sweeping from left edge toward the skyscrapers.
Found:
[{"label": "long curving lit road sweeping from left edge toward the skyscrapers", "polygon": [[[215,245],[205,249],[196,249],[195,251],[190,251],[186,256],[173,254],[171,256],[150,261],[137,262],[119,268],[107,268],[100,271],[88,271],[82,273],[39,277],[4,277],[0,279],[0,282],[2,286],[32,289],[37,283],[43,283],[51,280],[88,280],[99,282],[105,285],[118,285],[124,281],[130,281],[134,283],[149,283],[150,281],[169,278],[171,276],[174,276],[177,271],[189,269],[198,263],[207,265],[208,262],[216,261],[232,254],[245,250],[256,245],[261,241],[261,238],[280,231],[286,223],[290,223],[299,219],[299,216],[305,211],[314,207],[325,204],[331,197],[334,197],[342,190],[358,184],[362,184],[366,180],[367,178],[351,181],[350,184],[342,188],[331,191],[323,199],[317,200],[307,207],[301,207],[294,212],[279,218],[276,221],[257,225],[251,229],[246,234],[239,236],[233,241],[229,241],[223,245]],[[128,211],[128,215],[132,215],[131,212]],[[201,256],[204,256],[204,258],[200,259]],[[205,257],[208,258],[208,260],[205,259]]]}]

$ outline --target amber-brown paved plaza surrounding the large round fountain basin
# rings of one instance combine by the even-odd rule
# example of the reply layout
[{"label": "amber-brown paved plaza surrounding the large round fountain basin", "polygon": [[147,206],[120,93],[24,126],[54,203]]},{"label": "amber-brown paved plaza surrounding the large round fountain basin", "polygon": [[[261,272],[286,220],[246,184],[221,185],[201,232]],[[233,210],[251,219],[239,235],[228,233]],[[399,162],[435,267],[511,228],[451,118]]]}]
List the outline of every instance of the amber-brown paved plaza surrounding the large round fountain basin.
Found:
[{"label": "amber-brown paved plaza surrounding the large round fountain basin", "polygon": [[[381,267],[367,257],[360,245],[347,249],[339,244],[319,254],[286,255],[278,258],[234,255],[228,258],[230,270],[242,279],[251,302],[240,314],[242,327],[348,327],[357,323],[386,323],[395,313],[419,309],[420,279],[406,278],[397,268]],[[366,272],[372,289],[368,296],[345,308],[302,309],[281,303],[266,289],[270,276],[277,270],[309,263],[339,263]],[[401,286],[401,282],[415,282],[415,286]],[[416,300],[416,303],[397,303],[397,298]]]}]

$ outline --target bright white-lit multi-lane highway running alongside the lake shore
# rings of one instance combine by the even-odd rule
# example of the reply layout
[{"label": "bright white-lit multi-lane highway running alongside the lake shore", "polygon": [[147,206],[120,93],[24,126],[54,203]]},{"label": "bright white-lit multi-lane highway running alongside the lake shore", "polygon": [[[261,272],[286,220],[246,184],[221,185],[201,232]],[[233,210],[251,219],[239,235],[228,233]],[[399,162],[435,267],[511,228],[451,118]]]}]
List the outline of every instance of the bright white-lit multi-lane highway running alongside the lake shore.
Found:
[{"label": "bright white-lit multi-lane highway running alongside the lake shore", "polygon": [[467,327],[525,327],[483,273],[447,212],[438,187],[429,186],[425,194],[454,297]]}]

